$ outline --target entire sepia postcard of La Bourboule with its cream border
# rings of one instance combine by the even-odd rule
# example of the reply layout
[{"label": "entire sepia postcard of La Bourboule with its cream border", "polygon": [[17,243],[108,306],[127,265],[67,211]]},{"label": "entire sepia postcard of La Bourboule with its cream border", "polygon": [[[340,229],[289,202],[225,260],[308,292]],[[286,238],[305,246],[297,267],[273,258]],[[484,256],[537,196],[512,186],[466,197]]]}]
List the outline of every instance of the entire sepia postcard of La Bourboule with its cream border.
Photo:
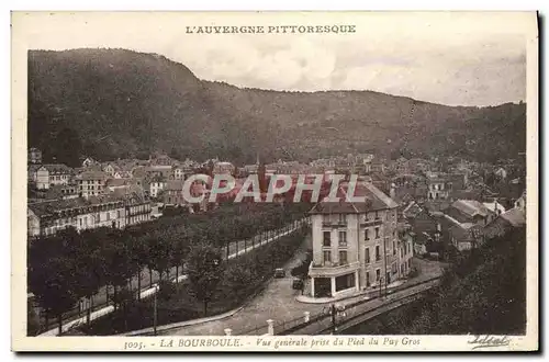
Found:
[{"label": "entire sepia postcard of La Bourboule with its cream border", "polygon": [[536,12],[11,22],[12,349],[538,349]]}]

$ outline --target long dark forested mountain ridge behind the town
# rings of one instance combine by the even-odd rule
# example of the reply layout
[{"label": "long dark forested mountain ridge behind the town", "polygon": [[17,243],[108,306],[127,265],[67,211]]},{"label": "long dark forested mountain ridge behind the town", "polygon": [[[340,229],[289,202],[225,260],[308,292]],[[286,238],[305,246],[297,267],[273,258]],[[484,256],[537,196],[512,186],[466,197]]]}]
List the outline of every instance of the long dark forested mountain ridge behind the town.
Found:
[{"label": "long dark forested mountain ridge behind the town", "polygon": [[29,145],[75,166],[165,150],[236,163],[385,156],[515,158],[526,104],[447,106],[372,91],[284,92],[198,79],[126,49],[29,52]]}]

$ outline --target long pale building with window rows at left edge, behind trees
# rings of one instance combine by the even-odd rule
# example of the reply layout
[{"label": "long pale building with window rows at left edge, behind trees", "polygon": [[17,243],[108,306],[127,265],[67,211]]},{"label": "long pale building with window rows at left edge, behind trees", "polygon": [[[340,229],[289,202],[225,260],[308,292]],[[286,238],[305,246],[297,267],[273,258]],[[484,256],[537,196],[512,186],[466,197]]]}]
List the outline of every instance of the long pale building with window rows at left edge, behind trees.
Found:
[{"label": "long pale building with window rows at left edge, behind trees", "polygon": [[125,226],[123,201],[111,196],[67,199],[31,203],[27,206],[29,237],[51,236],[67,227],[78,231]]}]

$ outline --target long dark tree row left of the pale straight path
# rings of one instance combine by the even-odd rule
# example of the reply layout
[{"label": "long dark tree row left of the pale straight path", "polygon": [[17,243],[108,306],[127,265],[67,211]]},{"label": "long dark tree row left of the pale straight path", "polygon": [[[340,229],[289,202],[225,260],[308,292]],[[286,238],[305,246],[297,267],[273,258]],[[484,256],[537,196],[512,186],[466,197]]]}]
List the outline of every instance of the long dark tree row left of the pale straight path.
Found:
[{"label": "long dark tree row left of the pale straight path", "polygon": [[177,278],[194,245],[209,245],[220,253],[226,248],[228,254],[232,241],[279,229],[303,217],[304,210],[298,204],[227,205],[206,215],[178,215],[124,230],[66,229],[30,244],[29,287],[46,319],[56,316],[61,328],[63,314],[80,298],[91,299],[102,286],[114,291],[116,308],[119,291],[135,275],[141,290],[143,270],[150,276],[156,271],[161,281],[175,268]]}]

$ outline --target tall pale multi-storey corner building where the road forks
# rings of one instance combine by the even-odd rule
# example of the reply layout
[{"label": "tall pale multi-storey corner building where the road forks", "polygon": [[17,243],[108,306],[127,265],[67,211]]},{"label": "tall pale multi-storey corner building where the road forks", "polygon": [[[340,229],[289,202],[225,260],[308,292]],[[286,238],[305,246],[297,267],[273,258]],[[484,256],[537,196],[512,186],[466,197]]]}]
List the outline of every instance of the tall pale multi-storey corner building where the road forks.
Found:
[{"label": "tall pale multi-storey corner building where the road forks", "polygon": [[343,201],[325,200],[310,212],[313,297],[343,297],[403,276],[396,233],[399,205],[371,183],[357,184],[355,196],[363,196],[361,202],[346,200],[348,190],[348,184],[340,183],[337,196]]}]

